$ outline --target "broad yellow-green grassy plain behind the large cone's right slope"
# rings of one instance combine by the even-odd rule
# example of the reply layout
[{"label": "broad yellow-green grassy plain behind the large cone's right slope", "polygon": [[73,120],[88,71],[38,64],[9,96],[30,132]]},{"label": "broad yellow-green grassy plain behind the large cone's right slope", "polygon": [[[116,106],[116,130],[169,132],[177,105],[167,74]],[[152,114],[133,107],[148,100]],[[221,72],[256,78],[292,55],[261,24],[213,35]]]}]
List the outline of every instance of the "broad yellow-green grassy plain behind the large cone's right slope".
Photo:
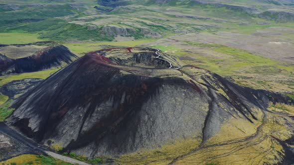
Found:
[{"label": "broad yellow-green grassy plain behind the large cone's right slope", "polygon": [[[195,47],[206,48],[207,50],[215,52],[215,57],[185,52],[181,48],[176,49],[173,47],[166,47],[168,48],[166,50],[173,51],[176,49],[176,51],[174,53],[171,53],[171,55],[177,57],[192,57],[195,60],[184,60],[184,62],[186,62],[187,64],[195,65],[197,67],[210,70],[223,76],[231,76],[232,74],[235,74],[236,72],[240,72],[241,70],[245,69],[246,72],[250,73],[267,72],[267,74],[270,74],[278,72],[280,73],[282,71],[285,74],[290,74],[291,72],[294,72],[293,66],[284,65],[280,61],[254,55],[243,49],[216,44],[194,42],[186,43]],[[159,46],[156,47],[159,48]],[[262,67],[264,71],[259,70],[259,67]]]}]

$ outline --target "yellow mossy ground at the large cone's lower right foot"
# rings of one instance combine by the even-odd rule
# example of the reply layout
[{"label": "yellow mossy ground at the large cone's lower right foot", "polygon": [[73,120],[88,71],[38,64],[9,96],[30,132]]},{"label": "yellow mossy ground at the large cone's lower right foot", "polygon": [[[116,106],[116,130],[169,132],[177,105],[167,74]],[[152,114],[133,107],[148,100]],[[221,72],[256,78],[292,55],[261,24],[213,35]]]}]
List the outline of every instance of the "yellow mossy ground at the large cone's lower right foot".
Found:
[{"label": "yellow mossy ground at the large cone's lower right foot", "polygon": [[[183,140],[181,145],[167,144],[166,146],[170,148],[163,146],[153,150],[140,151],[136,154],[124,155],[118,162],[132,164],[128,160],[136,160],[134,164],[165,165],[178,158],[174,162],[175,164],[238,165],[244,161],[256,165],[276,164],[278,163],[276,158],[283,157],[284,149],[275,138],[281,137],[281,140],[286,140],[293,134],[291,126],[287,125],[287,122],[289,122],[288,119],[271,113],[263,121],[255,123],[231,118],[221,127],[219,133],[200,148],[197,145],[191,145],[185,147],[183,151],[178,150],[170,154],[174,152],[172,147],[180,148],[179,146],[183,144],[189,144],[189,140]],[[194,144],[197,143],[194,142]],[[193,147],[195,148],[193,149]],[[186,153],[184,157],[179,157],[182,155],[181,152]]]}]

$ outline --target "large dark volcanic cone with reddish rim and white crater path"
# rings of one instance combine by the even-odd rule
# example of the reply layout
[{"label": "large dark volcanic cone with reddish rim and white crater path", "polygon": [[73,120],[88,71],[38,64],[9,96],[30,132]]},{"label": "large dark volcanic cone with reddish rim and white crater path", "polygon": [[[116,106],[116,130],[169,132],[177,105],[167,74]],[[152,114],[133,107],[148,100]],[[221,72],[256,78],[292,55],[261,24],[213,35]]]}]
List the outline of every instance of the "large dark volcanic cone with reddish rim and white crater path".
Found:
[{"label": "large dark volcanic cone with reddish rim and white crater path", "polygon": [[[62,147],[62,152],[123,157],[120,164],[150,163],[162,157],[168,164],[210,149],[210,144],[214,149],[214,138],[219,143],[236,137],[220,146],[237,144],[238,151],[247,150],[241,143],[261,141],[261,123],[279,109],[268,113],[269,105],[293,102],[283,94],[239,86],[207,70],[181,66],[157,49],[115,48],[88,53],[37,84],[13,101],[16,110],[6,122],[39,143]],[[186,147],[162,147],[169,143]],[[160,150],[149,155],[142,151],[161,147],[168,158]],[[139,155],[131,154],[136,152]],[[277,154],[278,158],[285,157]]]}]

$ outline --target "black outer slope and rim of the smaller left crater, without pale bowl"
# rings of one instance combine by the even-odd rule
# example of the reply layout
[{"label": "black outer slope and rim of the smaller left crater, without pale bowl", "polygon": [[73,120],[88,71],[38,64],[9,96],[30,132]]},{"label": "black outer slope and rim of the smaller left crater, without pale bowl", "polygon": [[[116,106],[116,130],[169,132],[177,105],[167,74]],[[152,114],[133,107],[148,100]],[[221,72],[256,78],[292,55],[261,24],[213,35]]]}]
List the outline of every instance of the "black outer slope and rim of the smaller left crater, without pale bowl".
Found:
[{"label": "black outer slope and rim of the smaller left crater, without pale bowl", "polygon": [[[0,74],[17,74],[59,68],[70,64],[78,58],[68,48],[57,43],[40,42],[26,45],[33,44],[46,45],[46,47],[24,58],[10,59],[4,55],[0,55]],[[1,47],[5,46],[9,45],[1,45]],[[24,46],[24,44],[13,46],[20,47]]]}]

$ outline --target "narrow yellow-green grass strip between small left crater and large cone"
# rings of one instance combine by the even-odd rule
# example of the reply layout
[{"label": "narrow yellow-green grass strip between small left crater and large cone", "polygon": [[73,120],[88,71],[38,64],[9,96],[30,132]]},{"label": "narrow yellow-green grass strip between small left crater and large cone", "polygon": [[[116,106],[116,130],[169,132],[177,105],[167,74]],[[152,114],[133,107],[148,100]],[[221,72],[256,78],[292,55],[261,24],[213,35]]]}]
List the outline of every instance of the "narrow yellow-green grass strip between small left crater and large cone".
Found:
[{"label": "narrow yellow-green grass strip between small left crater and large cone", "polygon": [[29,79],[29,78],[37,78],[37,79],[46,79],[50,75],[57,72],[59,69],[52,69],[46,71],[39,71],[39,72],[31,72],[31,73],[23,73],[18,75],[7,75],[0,77],[0,86],[9,83],[14,80],[22,80],[22,79]]}]

